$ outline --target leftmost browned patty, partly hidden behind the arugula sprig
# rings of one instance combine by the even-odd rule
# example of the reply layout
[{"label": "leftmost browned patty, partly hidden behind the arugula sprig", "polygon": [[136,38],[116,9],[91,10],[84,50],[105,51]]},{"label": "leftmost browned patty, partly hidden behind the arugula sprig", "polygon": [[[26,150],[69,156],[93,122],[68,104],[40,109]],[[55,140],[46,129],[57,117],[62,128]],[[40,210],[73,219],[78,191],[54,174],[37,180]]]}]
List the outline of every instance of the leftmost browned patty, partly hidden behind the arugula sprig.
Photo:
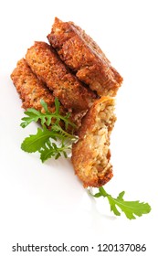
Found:
[{"label": "leftmost browned patty, partly hidden behind the arugula sprig", "polygon": [[37,76],[32,72],[26,63],[26,59],[20,59],[17,62],[16,69],[11,74],[11,79],[16,86],[16,91],[19,93],[23,101],[23,108],[35,108],[42,110],[40,100],[47,102],[47,107],[50,112],[55,111],[55,98],[45,84],[37,79]]}]

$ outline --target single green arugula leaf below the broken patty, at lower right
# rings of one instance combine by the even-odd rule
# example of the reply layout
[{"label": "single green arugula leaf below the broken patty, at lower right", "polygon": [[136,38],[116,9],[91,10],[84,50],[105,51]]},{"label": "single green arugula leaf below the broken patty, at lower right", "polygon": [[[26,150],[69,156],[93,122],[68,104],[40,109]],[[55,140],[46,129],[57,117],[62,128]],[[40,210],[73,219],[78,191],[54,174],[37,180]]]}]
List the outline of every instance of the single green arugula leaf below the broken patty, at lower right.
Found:
[{"label": "single green arugula leaf below the broken patty, at lower right", "polygon": [[141,203],[137,201],[125,201],[123,199],[125,192],[122,191],[117,198],[111,197],[103,187],[99,187],[99,192],[95,195],[90,195],[93,197],[107,197],[111,206],[111,211],[116,215],[120,216],[121,212],[118,208],[121,208],[121,211],[125,214],[127,219],[136,219],[135,216],[141,217],[142,214],[147,214],[151,211],[151,207],[148,203]]}]

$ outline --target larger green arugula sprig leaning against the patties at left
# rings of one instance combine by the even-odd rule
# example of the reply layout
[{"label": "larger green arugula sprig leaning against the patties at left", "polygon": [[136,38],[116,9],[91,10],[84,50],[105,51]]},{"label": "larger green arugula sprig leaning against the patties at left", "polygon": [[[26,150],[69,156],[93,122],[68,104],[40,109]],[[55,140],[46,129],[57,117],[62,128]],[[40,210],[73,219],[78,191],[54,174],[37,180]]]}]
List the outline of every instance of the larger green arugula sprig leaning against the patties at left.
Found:
[{"label": "larger green arugula sprig leaning against the patties at left", "polygon": [[[53,113],[48,111],[45,101],[41,100],[40,103],[45,110],[44,113],[29,108],[25,112],[26,117],[22,118],[23,123],[20,125],[23,128],[32,122],[41,123],[41,128],[37,128],[37,133],[30,134],[23,141],[21,144],[22,150],[28,153],[39,152],[42,162],[51,157],[58,159],[61,155],[68,157],[71,144],[77,140],[77,136],[67,132],[69,125],[72,129],[76,128],[76,125],[69,121],[70,113],[68,112],[65,116],[60,115],[60,103],[57,98],[55,99],[56,109]],[[65,130],[61,127],[60,122],[65,124]]]}]

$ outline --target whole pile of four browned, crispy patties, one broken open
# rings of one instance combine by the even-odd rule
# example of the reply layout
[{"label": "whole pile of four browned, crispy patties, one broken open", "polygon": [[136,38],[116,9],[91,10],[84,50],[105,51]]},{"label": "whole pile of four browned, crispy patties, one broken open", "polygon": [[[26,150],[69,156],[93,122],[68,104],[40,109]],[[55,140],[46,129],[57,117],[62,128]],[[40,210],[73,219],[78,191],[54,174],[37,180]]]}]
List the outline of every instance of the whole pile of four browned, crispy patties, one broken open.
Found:
[{"label": "whole pile of four browned, crispy patties, one broken open", "polygon": [[23,107],[42,110],[40,100],[54,112],[71,112],[79,141],[72,147],[72,164],[84,187],[100,187],[112,176],[110,134],[116,120],[114,99],[121,75],[99,46],[80,27],[55,18],[50,45],[36,42],[17,62],[11,78]]}]

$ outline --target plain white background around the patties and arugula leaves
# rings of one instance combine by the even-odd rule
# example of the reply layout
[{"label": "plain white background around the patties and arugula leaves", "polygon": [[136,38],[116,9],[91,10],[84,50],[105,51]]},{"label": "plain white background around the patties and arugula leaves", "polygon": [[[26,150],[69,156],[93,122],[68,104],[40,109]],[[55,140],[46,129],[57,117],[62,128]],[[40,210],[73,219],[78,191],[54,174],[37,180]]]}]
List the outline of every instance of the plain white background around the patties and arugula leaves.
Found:
[{"label": "plain white background around the patties and arugula leaves", "polygon": [[[0,254],[18,242],[89,245],[94,250],[66,255],[156,255],[158,229],[158,7],[157,1],[12,1],[0,3]],[[35,40],[47,41],[54,17],[74,21],[103,49],[123,76],[117,95],[117,123],[111,135],[114,177],[106,185],[116,197],[150,203],[135,220],[115,217],[106,199],[93,199],[74,175],[70,160],[42,164],[20,144],[21,101],[10,80],[16,61]],[[146,252],[97,252],[99,243],[141,243]],[[51,254],[52,253],[52,254]],[[61,253],[62,254],[62,253]],[[63,252],[64,254],[64,252]]]}]

